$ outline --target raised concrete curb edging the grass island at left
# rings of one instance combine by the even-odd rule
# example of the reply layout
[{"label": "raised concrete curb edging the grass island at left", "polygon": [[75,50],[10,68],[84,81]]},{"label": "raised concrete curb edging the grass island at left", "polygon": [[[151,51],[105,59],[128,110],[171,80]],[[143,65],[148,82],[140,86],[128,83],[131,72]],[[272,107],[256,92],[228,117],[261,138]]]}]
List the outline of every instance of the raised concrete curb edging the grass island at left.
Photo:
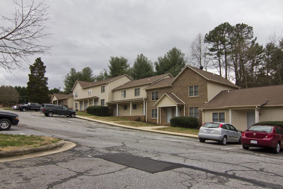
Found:
[{"label": "raised concrete curb edging the grass island at left", "polygon": [[54,149],[54,148],[61,147],[64,144],[65,144],[65,141],[61,140],[61,141],[58,141],[57,143],[51,143],[51,144],[44,145],[44,146],[1,151],[0,152],[0,158],[1,157],[9,157],[9,156],[23,156],[23,155],[30,154],[30,153],[41,152],[41,151],[44,151],[44,150],[51,150],[51,149]]}]

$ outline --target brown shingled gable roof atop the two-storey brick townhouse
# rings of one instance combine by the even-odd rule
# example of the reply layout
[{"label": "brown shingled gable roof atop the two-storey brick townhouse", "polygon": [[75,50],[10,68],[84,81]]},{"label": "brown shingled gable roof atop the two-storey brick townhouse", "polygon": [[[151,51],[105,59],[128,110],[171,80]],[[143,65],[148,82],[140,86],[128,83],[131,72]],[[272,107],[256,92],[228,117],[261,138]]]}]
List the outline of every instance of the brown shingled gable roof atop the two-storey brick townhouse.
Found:
[{"label": "brown shingled gable roof atop the two-storey brick townhouse", "polygon": [[175,82],[175,80],[177,78],[179,78],[179,76],[186,70],[186,69],[192,69],[193,71],[195,71],[196,73],[198,73],[199,75],[201,75],[202,77],[204,77],[205,79],[209,80],[209,81],[213,81],[216,83],[222,83],[222,84],[226,84],[235,88],[240,88],[239,86],[233,84],[231,81],[225,79],[224,77],[217,75],[215,73],[211,73],[205,70],[201,70],[189,65],[186,65],[183,70],[175,77],[175,79],[170,83],[170,85]]}]

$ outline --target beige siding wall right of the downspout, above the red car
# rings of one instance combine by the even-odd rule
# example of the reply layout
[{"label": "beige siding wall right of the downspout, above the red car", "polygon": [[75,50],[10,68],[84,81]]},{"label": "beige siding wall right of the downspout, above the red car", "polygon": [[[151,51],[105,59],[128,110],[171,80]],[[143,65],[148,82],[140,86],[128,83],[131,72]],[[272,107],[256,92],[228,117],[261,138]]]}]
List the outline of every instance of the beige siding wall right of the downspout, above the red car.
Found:
[{"label": "beige siding wall right of the downspout, above the red car", "polygon": [[262,107],[259,110],[259,122],[262,121],[283,121],[283,107]]}]

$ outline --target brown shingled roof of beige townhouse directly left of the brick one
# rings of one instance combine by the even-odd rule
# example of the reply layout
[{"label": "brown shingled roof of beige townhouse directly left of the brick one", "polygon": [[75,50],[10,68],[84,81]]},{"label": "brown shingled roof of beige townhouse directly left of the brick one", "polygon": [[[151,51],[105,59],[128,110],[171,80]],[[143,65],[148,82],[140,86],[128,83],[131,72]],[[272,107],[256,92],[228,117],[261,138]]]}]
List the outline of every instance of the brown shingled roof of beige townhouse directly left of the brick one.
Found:
[{"label": "brown shingled roof of beige townhouse directly left of the brick one", "polygon": [[129,81],[123,85],[120,85],[119,87],[114,88],[113,90],[116,89],[122,89],[122,88],[128,88],[132,86],[138,86],[138,85],[143,85],[143,84],[152,84],[155,83],[157,80],[162,79],[163,77],[169,75],[170,77],[173,77],[170,73],[162,74],[162,75],[157,75],[153,77],[147,77],[143,79],[138,79],[138,80],[133,80]]}]

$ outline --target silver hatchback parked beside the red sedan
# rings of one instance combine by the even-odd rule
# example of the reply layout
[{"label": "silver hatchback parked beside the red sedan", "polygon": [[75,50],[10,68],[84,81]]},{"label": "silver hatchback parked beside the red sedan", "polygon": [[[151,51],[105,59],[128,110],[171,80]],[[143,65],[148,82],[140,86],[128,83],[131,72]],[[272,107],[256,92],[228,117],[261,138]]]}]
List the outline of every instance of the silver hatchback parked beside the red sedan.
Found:
[{"label": "silver hatchback parked beside the red sedan", "polygon": [[201,143],[206,140],[220,142],[226,145],[227,142],[237,142],[241,144],[241,132],[229,123],[206,122],[200,127],[198,137]]}]

